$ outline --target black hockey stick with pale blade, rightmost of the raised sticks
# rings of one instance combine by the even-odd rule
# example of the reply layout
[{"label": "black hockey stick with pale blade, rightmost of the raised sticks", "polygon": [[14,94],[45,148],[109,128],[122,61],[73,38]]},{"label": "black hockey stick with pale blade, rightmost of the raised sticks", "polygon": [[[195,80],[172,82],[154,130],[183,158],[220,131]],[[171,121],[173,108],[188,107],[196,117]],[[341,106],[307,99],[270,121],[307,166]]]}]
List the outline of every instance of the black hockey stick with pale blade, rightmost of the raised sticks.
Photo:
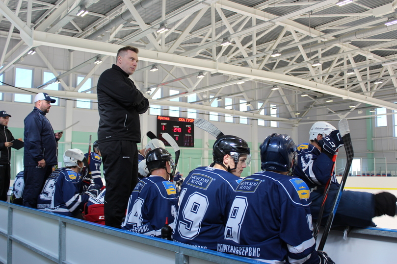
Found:
[{"label": "black hockey stick with pale blade, rightmost of the raised sticks", "polygon": [[344,167],[342,180],[337,195],[335,197],[332,210],[328,216],[327,223],[325,224],[324,232],[322,234],[320,243],[318,244],[317,250],[324,249],[325,241],[327,240],[329,231],[331,229],[332,221],[334,220],[336,210],[338,209],[339,201],[341,200],[342,191],[344,189],[344,184],[346,183],[347,175],[349,174],[350,166],[351,163],[353,162],[353,157],[354,157],[353,145],[351,143],[351,138],[350,138],[349,124],[346,119],[342,119],[339,121],[339,132],[341,133],[344,149],[346,150],[346,166]]}]

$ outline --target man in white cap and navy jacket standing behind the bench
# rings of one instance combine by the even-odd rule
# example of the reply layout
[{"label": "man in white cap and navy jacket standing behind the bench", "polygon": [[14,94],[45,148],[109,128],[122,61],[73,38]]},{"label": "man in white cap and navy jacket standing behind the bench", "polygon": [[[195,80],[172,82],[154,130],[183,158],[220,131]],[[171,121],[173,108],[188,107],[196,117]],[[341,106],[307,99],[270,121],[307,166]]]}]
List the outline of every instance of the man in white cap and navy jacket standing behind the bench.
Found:
[{"label": "man in white cap and navy jacket standing behind the bench", "polygon": [[56,142],[62,132],[54,133],[46,114],[55,99],[46,93],[34,97],[34,109],[24,120],[24,174],[23,205],[36,208],[44,182],[58,163]]}]

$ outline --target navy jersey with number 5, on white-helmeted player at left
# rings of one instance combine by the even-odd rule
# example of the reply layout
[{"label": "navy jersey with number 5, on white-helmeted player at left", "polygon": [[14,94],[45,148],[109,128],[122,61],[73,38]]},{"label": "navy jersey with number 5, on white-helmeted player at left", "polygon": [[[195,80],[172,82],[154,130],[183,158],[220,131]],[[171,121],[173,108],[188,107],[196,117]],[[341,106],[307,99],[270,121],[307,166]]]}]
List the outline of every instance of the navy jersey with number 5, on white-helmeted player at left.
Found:
[{"label": "navy jersey with number 5, on white-helmeted player at left", "polygon": [[88,202],[88,195],[82,192],[79,173],[69,168],[55,169],[37,199],[37,209],[75,216],[82,212],[84,204]]}]

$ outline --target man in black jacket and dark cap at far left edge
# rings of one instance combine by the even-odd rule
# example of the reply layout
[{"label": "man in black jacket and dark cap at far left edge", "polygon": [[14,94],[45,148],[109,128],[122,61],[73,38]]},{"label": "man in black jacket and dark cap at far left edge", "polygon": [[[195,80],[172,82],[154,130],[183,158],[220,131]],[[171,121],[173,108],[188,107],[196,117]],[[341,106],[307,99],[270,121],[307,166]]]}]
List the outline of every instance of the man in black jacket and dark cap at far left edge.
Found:
[{"label": "man in black jacket and dark cap at far left edge", "polygon": [[0,200],[7,201],[7,192],[11,179],[11,146],[14,140],[8,130],[8,120],[11,115],[7,111],[0,111]]}]

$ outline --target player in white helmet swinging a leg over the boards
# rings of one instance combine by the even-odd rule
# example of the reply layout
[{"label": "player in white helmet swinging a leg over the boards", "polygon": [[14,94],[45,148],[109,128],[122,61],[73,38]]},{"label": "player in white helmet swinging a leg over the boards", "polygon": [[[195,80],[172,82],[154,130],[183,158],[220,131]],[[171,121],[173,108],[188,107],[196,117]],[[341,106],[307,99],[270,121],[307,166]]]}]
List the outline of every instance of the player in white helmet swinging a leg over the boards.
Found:
[{"label": "player in white helmet swinging a leg over the boards", "polygon": [[[298,164],[294,175],[305,181],[311,190],[311,212],[314,222],[318,218],[325,185],[332,177],[321,220],[325,224],[339,188],[335,172],[331,176],[332,157],[336,150],[343,145],[343,141],[339,130],[323,121],[316,122],[309,134],[310,143],[300,144],[297,147]],[[370,192],[344,191],[332,225],[375,226],[372,217],[395,216],[396,201],[396,196],[389,192],[372,194]]]}]

